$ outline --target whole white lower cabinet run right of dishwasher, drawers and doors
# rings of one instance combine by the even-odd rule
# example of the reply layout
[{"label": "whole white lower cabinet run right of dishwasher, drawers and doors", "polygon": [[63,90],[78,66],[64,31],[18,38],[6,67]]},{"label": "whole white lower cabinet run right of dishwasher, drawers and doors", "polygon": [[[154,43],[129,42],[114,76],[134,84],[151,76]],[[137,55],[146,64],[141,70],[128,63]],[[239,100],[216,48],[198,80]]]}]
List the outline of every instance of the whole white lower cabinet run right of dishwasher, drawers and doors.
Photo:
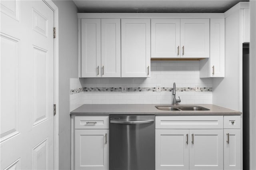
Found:
[{"label": "whole white lower cabinet run right of dishwasher, drawers and doors", "polygon": [[240,116],[156,116],[156,170],[241,170]]}]

